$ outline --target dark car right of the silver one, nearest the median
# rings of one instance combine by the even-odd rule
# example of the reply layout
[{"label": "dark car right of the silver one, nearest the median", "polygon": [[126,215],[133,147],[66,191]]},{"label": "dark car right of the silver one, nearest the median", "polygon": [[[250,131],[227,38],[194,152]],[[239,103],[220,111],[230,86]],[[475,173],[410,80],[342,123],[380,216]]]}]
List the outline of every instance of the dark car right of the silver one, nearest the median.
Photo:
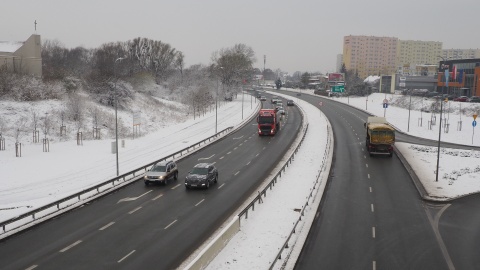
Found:
[{"label": "dark car right of the silver one, nearest the median", "polygon": [[205,188],[218,182],[218,170],[213,164],[199,163],[185,177],[185,188]]}]

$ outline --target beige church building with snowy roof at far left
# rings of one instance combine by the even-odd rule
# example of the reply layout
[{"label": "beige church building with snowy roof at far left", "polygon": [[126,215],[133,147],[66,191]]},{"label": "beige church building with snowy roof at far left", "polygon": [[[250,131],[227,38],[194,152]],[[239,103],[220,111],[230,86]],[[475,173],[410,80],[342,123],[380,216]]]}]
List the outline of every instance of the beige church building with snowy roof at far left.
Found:
[{"label": "beige church building with snowy roof at far left", "polygon": [[40,35],[31,35],[24,42],[0,42],[0,69],[41,77],[42,43]]}]

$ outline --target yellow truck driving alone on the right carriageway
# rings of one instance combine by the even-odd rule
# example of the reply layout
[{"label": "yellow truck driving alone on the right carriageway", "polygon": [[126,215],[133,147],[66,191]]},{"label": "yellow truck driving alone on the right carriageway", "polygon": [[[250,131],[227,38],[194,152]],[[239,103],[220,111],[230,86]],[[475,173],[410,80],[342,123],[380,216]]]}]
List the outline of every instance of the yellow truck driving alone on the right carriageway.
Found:
[{"label": "yellow truck driving alone on the right carriageway", "polygon": [[367,130],[366,148],[370,156],[393,156],[395,144],[395,129],[387,122],[385,117],[370,116],[364,124]]}]

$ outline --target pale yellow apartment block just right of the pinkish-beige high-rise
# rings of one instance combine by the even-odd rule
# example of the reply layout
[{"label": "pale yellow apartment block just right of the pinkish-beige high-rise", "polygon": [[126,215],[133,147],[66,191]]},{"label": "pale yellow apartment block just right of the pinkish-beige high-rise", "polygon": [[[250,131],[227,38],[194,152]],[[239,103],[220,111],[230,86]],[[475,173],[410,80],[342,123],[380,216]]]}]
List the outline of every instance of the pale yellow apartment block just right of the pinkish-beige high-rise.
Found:
[{"label": "pale yellow apartment block just right of the pinkish-beige high-rise", "polygon": [[437,64],[442,54],[442,42],[398,40],[396,72],[402,75],[417,74],[417,66]]}]

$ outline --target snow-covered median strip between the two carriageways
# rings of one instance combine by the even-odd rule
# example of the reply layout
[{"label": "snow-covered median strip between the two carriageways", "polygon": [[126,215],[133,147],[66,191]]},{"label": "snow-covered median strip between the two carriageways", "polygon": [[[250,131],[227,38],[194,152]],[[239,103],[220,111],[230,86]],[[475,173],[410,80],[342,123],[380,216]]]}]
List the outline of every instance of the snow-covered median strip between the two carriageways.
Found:
[{"label": "snow-covered median strip between the two carriageways", "polygon": [[[274,94],[279,95],[276,92]],[[285,97],[290,99],[289,96]],[[248,219],[242,220],[240,231],[206,269],[270,268],[289,237],[295,222],[301,217],[301,209],[308,202],[309,206],[306,207],[307,211],[302,217],[303,224],[298,225],[289,241],[289,245],[293,243],[295,248],[288,249],[287,252],[290,253],[282,255],[282,261],[276,262],[275,268],[286,263],[286,259],[296,260],[328,177],[331,156],[327,158],[328,163],[323,169],[319,160],[323,159],[328,147],[327,136],[332,136],[331,132],[328,134],[328,128],[326,128],[330,126],[328,119],[316,107],[304,101],[297,101],[297,105],[305,111],[309,123],[314,124],[309,125],[309,131],[295,160],[277,182],[273,192],[263,200],[262,204],[255,207],[255,211],[249,213]],[[321,182],[310,198],[317,177]],[[310,199],[313,201],[309,202]]]}]

